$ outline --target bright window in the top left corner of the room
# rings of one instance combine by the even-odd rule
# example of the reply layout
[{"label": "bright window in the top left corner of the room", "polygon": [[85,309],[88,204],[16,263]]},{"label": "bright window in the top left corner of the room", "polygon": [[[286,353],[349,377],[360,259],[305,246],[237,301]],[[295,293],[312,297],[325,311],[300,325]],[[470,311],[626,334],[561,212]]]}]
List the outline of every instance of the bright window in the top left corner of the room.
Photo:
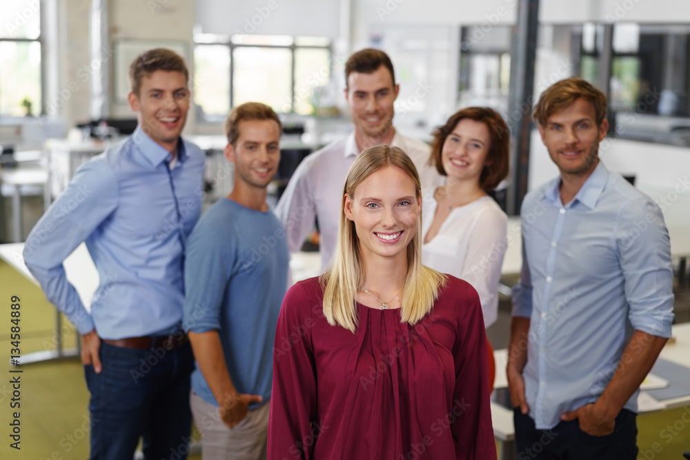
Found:
[{"label": "bright window in the top left corner of the room", "polygon": [[41,3],[0,8],[0,117],[41,114]]}]

